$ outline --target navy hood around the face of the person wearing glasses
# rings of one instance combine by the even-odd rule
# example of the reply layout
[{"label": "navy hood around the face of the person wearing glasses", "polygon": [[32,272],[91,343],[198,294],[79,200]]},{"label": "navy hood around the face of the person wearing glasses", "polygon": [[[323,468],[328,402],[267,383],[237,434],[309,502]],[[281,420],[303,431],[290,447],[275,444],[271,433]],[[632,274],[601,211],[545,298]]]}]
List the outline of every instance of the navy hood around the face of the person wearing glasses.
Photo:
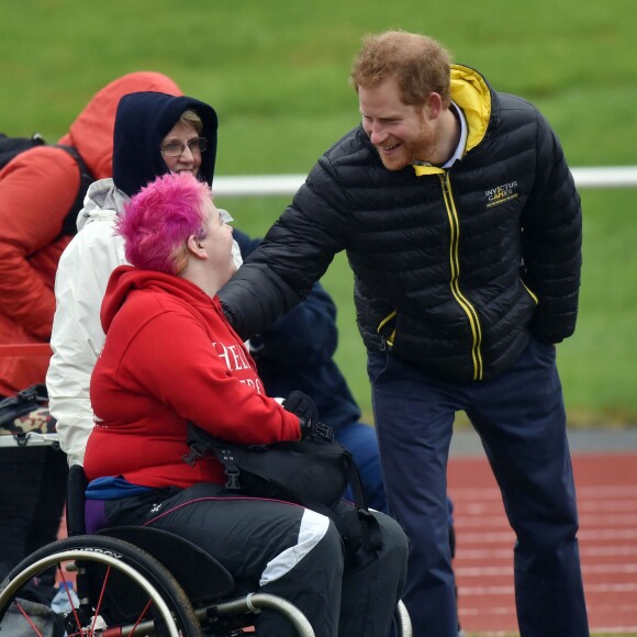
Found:
[{"label": "navy hood around the face of the person wearing glasses", "polygon": [[133,197],[156,177],[168,172],[159,145],[188,110],[194,111],[203,122],[201,136],[208,139],[208,148],[201,154],[199,176],[212,187],[217,127],[214,109],[194,98],[144,91],[124,96],[115,114],[113,181],[120,190]]}]

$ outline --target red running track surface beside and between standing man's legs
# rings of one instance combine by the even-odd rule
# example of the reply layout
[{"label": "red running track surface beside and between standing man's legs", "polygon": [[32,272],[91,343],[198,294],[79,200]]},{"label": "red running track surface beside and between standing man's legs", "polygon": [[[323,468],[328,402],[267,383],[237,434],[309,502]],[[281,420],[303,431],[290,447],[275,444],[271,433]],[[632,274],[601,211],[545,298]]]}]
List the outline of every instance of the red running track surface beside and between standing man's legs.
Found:
[{"label": "red running track surface beside and between standing man's legs", "polygon": [[[592,633],[637,633],[637,454],[573,456],[580,556]],[[514,534],[484,458],[449,460],[460,622],[516,633]]]}]

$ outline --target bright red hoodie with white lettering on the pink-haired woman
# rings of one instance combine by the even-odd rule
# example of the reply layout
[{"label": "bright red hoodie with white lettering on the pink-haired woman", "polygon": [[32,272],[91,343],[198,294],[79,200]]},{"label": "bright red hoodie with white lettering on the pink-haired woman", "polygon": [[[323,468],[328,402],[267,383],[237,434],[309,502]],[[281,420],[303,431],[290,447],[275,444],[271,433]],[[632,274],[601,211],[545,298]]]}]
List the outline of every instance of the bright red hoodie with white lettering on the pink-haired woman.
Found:
[{"label": "bright red hoodie with white lettering on the pink-haired woman", "polygon": [[121,266],[109,280],[101,318],[107,340],[91,377],[89,480],[223,483],[216,460],[183,461],[189,421],[236,443],[300,438],[299,418],[265,394],[216,297],[180,277]]}]

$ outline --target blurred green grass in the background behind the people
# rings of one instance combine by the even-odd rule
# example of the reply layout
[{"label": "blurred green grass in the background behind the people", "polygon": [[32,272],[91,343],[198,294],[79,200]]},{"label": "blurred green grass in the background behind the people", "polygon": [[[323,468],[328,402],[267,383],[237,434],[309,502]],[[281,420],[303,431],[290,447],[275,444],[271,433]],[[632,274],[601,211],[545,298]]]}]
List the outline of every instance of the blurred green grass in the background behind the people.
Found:
[{"label": "blurred green grass in the background behind the people", "polygon": [[[442,40],[498,89],[534,101],[571,166],[637,163],[634,0],[425,3],[422,0],[24,0],[0,9],[0,131],[55,139],[88,99],[132,70],[160,70],[220,115],[219,175],[306,172],[358,121],[347,82],[360,37],[401,27]],[[573,425],[637,423],[636,190],[586,190],[577,334],[559,348]],[[219,201],[264,233],[287,198]],[[339,308],[338,361],[370,414],[351,275],[326,287]]]}]

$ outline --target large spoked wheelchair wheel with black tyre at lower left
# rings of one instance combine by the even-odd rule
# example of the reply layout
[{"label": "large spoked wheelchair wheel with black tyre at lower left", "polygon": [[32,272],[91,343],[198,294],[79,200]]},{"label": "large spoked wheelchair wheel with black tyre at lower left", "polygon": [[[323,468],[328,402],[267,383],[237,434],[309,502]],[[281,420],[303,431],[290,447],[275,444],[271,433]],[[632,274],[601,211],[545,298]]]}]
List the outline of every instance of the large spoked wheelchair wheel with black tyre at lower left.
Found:
[{"label": "large spoked wheelchair wheel with black tyre at lower left", "polygon": [[[32,611],[32,591],[52,569],[72,610],[62,617],[52,613],[56,627],[45,633],[38,628],[42,617]],[[65,581],[75,583],[77,595]],[[64,632],[69,637],[202,635],[183,589],[159,561],[126,541],[93,535],[49,544],[9,573],[0,583],[0,633],[3,629],[8,636]]]}]

